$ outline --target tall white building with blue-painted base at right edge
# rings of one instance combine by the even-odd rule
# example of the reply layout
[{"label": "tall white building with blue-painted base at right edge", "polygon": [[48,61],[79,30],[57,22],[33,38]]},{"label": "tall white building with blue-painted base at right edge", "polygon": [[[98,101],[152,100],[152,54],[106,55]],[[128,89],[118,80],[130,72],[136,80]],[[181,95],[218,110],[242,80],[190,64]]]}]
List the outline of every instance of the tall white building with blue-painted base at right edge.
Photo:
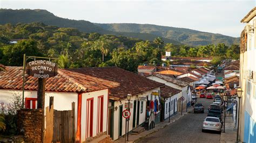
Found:
[{"label": "tall white building with blue-painted base at right edge", "polygon": [[[242,95],[238,109],[239,140],[256,141],[256,7],[242,20],[245,28],[241,33],[240,43],[240,87]],[[231,70],[234,70],[233,68]],[[237,98],[237,101],[238,98]],[[238,105],[239,105],[238,104]]]}]

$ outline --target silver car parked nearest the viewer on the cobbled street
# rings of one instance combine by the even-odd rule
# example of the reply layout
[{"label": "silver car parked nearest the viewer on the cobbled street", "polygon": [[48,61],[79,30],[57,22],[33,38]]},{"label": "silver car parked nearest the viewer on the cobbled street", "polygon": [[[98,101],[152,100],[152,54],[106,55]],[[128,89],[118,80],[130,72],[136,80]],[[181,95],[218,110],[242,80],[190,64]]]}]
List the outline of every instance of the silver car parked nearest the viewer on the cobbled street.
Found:
[{"label": "silver car parked nearest the viewer on the cobbled street", "polygon": [[218,131],[221,133],[221,122],[217,117],[206,117],[203,123],[202,132],[205,130]]}]

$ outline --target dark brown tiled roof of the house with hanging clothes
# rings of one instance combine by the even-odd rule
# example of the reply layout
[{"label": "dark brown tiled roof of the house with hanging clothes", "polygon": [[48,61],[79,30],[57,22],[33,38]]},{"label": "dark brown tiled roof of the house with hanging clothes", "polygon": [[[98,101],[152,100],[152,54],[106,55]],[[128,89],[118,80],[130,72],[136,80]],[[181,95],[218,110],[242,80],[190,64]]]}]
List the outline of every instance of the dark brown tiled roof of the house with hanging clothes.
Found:
[{"label": "dark brown tiled roof of the house with hanging clothes", "polygon": [[126,98],[127,94],[137,95],[165,85],[118,67],[95,67],[66,70],[120,83],[118,87],[110,88],[109,94],[114,100]]}]

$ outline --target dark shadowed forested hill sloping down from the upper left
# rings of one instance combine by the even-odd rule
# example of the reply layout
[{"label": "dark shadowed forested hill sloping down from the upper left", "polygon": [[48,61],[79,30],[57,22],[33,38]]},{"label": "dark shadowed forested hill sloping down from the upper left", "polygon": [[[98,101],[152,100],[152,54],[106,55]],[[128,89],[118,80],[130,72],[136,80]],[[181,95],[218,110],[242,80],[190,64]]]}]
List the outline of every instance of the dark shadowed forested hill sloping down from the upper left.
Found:
[{"label": "dark shadowed forested hill sloping down from the upper left", "polygon": [[[60,18],[47,10],[11,10],[11,9],[0,9],[0,25],[7,23],[17,24],[17,23],[32,23],[32,22],[42,22],[46,25],[54,25],[58,27],[73,27],[77,28],[79,31],[86,33],[97,32],[100,34],[112,34],[112,35],[123,35],[125,37],[138,38],[142,40],[153,41],[158,35],[150,33],[138,33],[138,32],[113,32],[105,30],[104,28],[95,25],[91,22],[85,20],[71,20],[66,18]],[[162,38],[166,43],[180,44],[180,42],[172,39]]]}]

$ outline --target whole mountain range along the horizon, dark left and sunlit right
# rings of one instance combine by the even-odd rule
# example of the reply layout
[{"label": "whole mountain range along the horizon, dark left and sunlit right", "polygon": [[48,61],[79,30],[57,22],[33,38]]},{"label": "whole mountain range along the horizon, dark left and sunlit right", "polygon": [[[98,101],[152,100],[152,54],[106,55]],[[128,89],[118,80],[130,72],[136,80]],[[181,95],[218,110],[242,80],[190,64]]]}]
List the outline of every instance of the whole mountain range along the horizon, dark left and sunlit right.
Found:
[{"label": "whole mountain range along the horizon, dark left and sunlit right", "polygon": [[0,24],[17,24],[42,22],[46,25],[58,27],[73,27],[79,31],[100,34],[122,35],[125,37],[138,38],[153,41],[154,38],[161,37],[165,43],[192,46],[217,44],[219,41],[226,45],[239,44],[238,38],[227,35],[191,30],[189,28],[179,28],[170,26],[160,26],[153,24],[99,24],[86,20],[73,20],[55,16],[53,13],[42,9],[0,9]]}]

